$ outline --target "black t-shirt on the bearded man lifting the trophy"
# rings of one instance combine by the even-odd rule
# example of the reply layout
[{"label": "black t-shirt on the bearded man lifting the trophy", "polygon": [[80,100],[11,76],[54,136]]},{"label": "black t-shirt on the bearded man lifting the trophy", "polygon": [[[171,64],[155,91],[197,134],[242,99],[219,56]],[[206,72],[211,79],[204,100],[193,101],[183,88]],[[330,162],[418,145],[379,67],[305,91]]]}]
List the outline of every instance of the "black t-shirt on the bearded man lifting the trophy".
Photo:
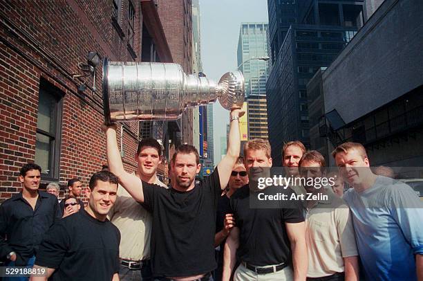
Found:
[{"label": "black t-shirt on the bearded man lifting the trophy", "polygon": [[153,216],[154,275],[182,277],[215,269],[216,208],[222,192],[217,169],[188,192],[144,182],[142,187],[142,206]]}]

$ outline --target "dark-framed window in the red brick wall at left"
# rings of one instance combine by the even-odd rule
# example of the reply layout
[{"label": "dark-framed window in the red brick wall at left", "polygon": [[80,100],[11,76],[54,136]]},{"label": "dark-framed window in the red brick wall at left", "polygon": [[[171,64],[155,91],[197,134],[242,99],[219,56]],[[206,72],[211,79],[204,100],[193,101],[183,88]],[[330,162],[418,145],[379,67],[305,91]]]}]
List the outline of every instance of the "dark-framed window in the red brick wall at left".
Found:
[{"label": "dark-framed window in the red brick wall at left", "polygon": [[35,163],[41,166],[43,179],[59,179],[62,92],[46,80],[39,86]]}]

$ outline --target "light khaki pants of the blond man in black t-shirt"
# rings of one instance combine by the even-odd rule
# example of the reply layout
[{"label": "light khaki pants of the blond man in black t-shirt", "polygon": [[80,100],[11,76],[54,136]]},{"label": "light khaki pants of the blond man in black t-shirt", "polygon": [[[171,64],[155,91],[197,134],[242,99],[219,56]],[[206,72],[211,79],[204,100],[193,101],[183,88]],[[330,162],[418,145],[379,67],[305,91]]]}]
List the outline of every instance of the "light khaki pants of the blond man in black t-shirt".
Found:
[{"label": "light khaki pants of the blond man in black t-shirt", "polygon": [[286,266],[285,269],[267,274],[257,274],[250,269],[247,269],[242,263],[238,266],[234,273],[234,281],[291,281],[294,280],[294,272],[291,266]]}]

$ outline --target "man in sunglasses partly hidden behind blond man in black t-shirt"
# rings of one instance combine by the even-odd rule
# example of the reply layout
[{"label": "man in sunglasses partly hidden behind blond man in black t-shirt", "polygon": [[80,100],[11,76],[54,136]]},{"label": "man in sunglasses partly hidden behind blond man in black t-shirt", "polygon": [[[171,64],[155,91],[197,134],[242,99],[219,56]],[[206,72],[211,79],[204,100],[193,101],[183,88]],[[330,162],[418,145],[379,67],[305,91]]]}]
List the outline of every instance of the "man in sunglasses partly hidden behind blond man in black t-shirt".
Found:
[{"label": "man in sunglasses partly hidden behind blond man in black t-shirt", "polygon": [[216,213],[216,235],[214,235],[214,246],[216,246],[217,269],[214,271],[214,280],[222,280],[223,271],[223,247],[227,235],[235,225],[234,215],[231,212],[230,200],[232,194],[248,183],[247,170],[245,170],[244,158],[238,157],[231,176],[227,192],[225,192],[218,201],[218,210]]}]

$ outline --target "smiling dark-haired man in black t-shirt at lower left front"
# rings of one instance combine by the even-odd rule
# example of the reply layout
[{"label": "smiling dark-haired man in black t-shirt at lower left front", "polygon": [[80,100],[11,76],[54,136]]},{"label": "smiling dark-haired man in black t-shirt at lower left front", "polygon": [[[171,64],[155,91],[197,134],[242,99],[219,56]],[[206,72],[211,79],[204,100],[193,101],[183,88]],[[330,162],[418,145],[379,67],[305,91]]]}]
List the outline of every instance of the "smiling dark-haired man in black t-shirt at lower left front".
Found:
[{"label": "smiling dark-haired man in black t-shirt at lower left front", "polygon": [[41,243],[34,267],[44,267],[47,275],[30,280],[119,280],[120,233],[106,218],[117,192],[111,172],[91,176],[85,210],[58,221]]}]

